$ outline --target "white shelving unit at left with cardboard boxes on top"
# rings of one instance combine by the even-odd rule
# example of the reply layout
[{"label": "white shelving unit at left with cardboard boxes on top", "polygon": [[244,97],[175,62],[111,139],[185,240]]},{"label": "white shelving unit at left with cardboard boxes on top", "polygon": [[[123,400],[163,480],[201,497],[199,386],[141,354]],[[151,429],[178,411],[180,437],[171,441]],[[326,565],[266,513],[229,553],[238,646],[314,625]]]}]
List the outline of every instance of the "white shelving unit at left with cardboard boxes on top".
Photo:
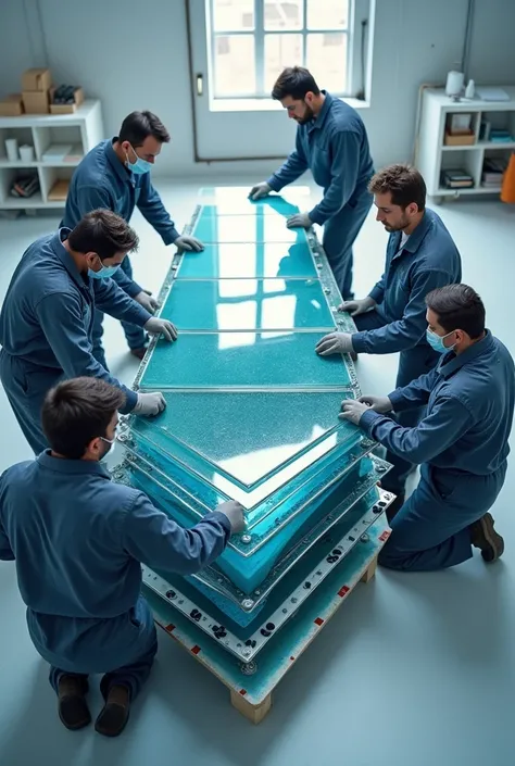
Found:
[{"label": "white shelving unit at left with cardboard boxes on top", "polygon": [[[34,147],[34,162],[10,162],[5,139],[16,138],[18,146]],[[84,156],[104,138],[100,101],[85,101],[73,114],[22,114],[0,117],[0,210],[64,208],[64,201],[52,201],[48,193],[54,183],[72,177],[79,159],[45,162],[43,154],[52,143],[80,147]],[[22,199],[10,194],[13,180],[21,173],[39,177],[40,191]]]}]

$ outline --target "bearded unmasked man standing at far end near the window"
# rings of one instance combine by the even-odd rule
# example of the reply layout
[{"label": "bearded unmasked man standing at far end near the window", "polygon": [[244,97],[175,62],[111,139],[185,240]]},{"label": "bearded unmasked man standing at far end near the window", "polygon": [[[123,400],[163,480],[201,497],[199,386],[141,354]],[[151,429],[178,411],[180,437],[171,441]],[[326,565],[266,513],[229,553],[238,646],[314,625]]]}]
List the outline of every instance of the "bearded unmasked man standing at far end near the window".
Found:
[{"label": "bearded unmasked man standing at far end near the window", "polygon": [[324,189],[322,202],[287,226],[324,226],[323,246],[344,300],[352,293],[352,246],[372,206],[368,181],[374,166],[365,126],[349,104],[321,90],[301,66],[286,68],[272,91],[298,123],[296,149],[285,164],[250,190],[259,200],[297,180],[307,168]]}]

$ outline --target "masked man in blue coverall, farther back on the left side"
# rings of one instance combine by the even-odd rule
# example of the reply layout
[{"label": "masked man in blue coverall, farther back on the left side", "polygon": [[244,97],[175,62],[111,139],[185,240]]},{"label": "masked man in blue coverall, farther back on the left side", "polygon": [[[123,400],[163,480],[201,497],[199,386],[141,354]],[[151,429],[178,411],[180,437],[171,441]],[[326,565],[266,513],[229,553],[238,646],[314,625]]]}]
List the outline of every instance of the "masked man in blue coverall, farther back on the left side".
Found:
[{"label": "masked man in blue coverall, farther back on the left side", "polygon": [[[133,112],[125,117],[120,136],[91,149],[75,168],[61,226],[73,229],[86,213],[99,208],[112,210],[129,223],[137,206],[165,244],[174,243],[180,250],[202,250],[196,237],[179,235],[150,181],[150,169],[162,145],[168,141],[166,128],[152,112]],[[113,278],[143,309],[151,314],[155,312],[158,301],[134,281],[129,258],[124,259]],[[102,347],[102,323],[103,312],[97,309],[92,327],[93,356],[109,369]],[[128,321],[122,321],[122,327],[130,352],[142,359],[147,350],[145,331]]]}]

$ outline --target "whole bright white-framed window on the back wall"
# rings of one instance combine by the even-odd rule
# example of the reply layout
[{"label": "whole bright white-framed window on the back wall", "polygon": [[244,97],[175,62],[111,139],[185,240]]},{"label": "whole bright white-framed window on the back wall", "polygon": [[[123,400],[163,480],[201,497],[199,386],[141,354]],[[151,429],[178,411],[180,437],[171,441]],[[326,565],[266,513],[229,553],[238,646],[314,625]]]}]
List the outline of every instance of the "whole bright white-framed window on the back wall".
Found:
[{"label": "whole bright white-framed window on the back wall", "polygon": [[206,0],[214,99],[269,99],[285,66],[351,92],[353,0]]}]

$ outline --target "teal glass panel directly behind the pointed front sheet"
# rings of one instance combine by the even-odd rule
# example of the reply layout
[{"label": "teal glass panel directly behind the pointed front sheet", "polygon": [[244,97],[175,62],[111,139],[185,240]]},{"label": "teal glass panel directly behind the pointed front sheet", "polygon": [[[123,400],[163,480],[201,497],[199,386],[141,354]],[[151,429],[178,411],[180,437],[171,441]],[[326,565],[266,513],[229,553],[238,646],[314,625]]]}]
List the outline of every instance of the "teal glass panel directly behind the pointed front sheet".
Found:
[{"label": "teal glass panel directly behind the pointed front sheet", "polygon": [[[178,317],[177,317],[178,318]],[[181,332],[160,340],[141,375],[143,390],[336,388],[351,384],[341,355],[318,356],[321,332]]]}]

